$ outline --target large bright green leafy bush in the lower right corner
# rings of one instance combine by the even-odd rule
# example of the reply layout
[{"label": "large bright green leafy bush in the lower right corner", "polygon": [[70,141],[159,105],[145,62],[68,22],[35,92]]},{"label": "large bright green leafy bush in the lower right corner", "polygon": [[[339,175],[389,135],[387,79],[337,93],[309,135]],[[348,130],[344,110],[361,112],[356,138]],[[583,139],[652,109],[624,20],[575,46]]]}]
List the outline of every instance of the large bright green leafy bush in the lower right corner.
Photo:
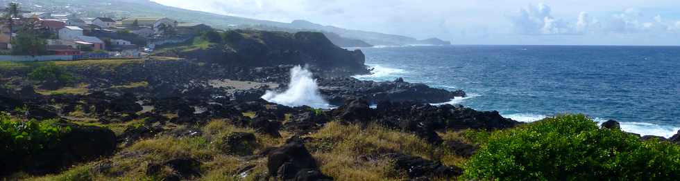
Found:
[{"label": "large bright green leafy bush in the lower right corner", "polygon": [[560,115],[491,134],[465,167],[472,180],[674,180],[680,146]]}]

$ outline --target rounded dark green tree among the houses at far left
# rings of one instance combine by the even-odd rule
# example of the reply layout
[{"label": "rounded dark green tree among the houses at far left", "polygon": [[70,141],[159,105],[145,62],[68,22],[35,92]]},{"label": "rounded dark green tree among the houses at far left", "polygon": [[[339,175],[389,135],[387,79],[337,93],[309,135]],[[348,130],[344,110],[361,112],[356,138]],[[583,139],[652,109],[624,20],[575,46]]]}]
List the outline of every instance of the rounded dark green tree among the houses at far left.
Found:
[{"label": "rounded dark green tree among the houses at far left", "polygon": [[13,55],[46,55],[47,41],[35,30],[22,30],[12,39]]}]

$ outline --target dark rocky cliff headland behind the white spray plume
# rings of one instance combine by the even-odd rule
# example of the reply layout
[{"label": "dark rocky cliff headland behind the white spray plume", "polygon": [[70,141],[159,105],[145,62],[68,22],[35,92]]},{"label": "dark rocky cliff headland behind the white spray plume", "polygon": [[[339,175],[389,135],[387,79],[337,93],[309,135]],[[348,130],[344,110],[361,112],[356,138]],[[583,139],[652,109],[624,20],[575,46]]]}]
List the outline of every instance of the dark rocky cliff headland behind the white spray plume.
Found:
[{"label": "dark rocky cliff headland behind the white spray plume", "polygon": [[341,75],[368,73],[361,50],[340,48],[321,32],[229,30],[212,36],[196,37],[185,46],[162,48],[155,55],[226,66],[309,65],[328,72],[341,71]]}]

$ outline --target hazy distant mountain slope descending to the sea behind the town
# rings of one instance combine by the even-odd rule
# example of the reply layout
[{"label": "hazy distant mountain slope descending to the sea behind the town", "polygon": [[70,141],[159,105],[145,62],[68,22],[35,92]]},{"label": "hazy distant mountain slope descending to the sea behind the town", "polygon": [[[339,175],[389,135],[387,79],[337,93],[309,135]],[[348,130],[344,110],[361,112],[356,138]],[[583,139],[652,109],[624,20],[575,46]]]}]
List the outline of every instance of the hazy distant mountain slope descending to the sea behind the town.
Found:
[{"label": "hazy distant mountain slope descending to the sea behind the town", "polygon": [[[36,11],[71,11],[77,12],[87,16],[106,16],[106,17],[169,17],[177,19],[178,21],[205,23],[214,28],[255,28],[257,27],[272,27],[284,28],[288,30],[305,30],[328,32],[339,35],[342,42],[348,44],[364,43],[371,45],[382,46],[400,46],[409,44],[423,44],[424,42],[446,44],[448,41],[432,41],[432,39],[418,41],[412,37],[402,35],[389,35],[380,32],[368,32],[362,30],[348,30],[334,26],[323,26],[317,23],[312,23],[305,20],[296,20],[291,23],[282,23],[277,21],[266,21],[259,19],[249,19],[244,17],[234,17],[227,15],[217,15],[210,12],[201,12],[195,10],[185,10],[182,8],[174,8],[164,6],[160,3],[155,3],[148,0],[0,0],[0,3],[6,4],[10,1],[22,3],[24,8]],[[354,42],[349,42],[354,41]],[[334,41],[340,42],[340,41]],[[449,43],[450,44],[450,43]],[[343,45],[339,45],[343,46]],[[366,45],[364,45],[366,46]]]}]

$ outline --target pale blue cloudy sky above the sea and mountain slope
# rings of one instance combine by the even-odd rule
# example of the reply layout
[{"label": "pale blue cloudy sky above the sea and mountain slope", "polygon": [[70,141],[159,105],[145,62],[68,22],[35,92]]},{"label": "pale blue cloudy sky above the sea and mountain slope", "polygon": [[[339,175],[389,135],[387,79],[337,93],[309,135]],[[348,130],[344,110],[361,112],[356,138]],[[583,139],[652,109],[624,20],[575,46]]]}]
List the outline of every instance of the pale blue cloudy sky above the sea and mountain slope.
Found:
[{"label": "pale blue cloudy sky above the sea and mountain slope", "polygon": [[680,0],[152,0],[453,44],[680,45]]}]

